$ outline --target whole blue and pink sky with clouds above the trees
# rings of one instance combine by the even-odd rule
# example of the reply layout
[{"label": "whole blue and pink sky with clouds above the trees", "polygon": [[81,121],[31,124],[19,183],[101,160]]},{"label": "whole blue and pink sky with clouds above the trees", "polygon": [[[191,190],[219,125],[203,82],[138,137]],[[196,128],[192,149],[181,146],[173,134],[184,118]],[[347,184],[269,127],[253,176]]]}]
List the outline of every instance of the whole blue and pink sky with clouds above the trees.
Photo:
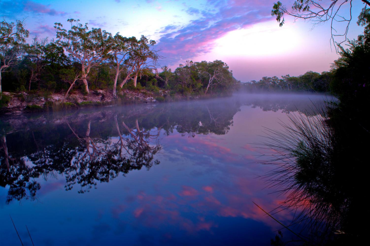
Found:
[{"label": "whole blue and pink sky with clouds above the trees", "polygon": [[[0,0],[0,16],[26,18],[30,38],[55,37],[55,22],[80,19],[89,27],[157,41],[162,65],[175,68],[186,60],[226,62],[242,82],[262,76],[328,71],[338,57],[330,47],[330,26],[286,18],[279,27],[270,15],[275,0]],[[323,2],[329,2],[324,0]],[[290,0],[282,0],[289,6]],[[349,38],[363,4],[353,1]]]}]

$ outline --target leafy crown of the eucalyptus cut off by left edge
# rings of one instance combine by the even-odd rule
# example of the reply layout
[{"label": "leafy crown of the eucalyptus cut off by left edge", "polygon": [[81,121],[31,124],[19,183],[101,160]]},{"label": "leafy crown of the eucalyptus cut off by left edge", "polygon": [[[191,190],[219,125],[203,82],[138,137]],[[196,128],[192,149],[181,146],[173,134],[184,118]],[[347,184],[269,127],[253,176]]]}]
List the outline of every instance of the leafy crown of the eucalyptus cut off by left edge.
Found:
[{"label": "leafy crown of the eucalyptus cut off by left edge", "polygon": [[0,98],[1,98],[1,73],[17,64],[23,55],[23,44],[28,38],[29,31],[23,27],[24,21],[16,20],[0,22]]}]

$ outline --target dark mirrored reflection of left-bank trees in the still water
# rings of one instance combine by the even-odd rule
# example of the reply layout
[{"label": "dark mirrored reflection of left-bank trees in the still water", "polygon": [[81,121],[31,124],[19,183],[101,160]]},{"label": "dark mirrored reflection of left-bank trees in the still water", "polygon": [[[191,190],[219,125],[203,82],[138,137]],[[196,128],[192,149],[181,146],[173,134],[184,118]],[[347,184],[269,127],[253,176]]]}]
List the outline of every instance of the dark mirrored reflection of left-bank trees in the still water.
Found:
[{"label": "dark mirrored reflection of left-bank trees in the still water", "polygon": [[[78,192],[84,193],[131,170],[149,170],[159,164],[155,155],[162,148],[161,135],[174,131],[188,137],[226,134],[240,107],[255,103],[255,99],[235,97],[3,118],[7,126],[1,124],[0,179],[2,187],[9,185],[7,202],[36,199],[40,178],[65,176],[65,189],[77,185]],[[289,105],[282,102],[281,107]]]}]

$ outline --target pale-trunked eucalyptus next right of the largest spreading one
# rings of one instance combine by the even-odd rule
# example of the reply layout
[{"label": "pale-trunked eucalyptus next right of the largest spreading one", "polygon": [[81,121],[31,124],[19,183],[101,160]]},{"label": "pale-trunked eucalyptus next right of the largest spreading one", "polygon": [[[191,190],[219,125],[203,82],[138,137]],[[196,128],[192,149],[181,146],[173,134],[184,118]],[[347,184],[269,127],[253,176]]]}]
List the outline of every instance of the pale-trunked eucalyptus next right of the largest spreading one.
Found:
[{"label": "pale-trunked eucalyptus next right of the largest spreading one", "polygon": [[115,77],[113,82],[113,96],[116,97],[116,88],[117,88],[117,80],[118,76],[121,72],[125,71],[126,76],[121,82],[122,86],[131,79],[131,74],[134,71],[134,64],[131,59],[131,49],[132,46],[135,45],[137,42],[135,37],[126,38],[122,37],[119,33],[117,33],[113,38],[113,44],[111,47],[110,55],[111,55],[111,62],[115,68]]}]

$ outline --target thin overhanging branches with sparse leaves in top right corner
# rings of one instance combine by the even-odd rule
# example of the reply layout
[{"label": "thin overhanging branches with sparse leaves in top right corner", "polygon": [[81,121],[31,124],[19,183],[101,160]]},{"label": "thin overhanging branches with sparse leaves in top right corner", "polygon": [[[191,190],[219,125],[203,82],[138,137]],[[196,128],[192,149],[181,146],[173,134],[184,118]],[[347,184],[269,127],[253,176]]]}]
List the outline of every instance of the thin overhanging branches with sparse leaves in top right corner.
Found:
[{"label": "thin overhanging branches with sparse leaves in top right corner", "polygon": [[[271,15],[276,16],[280,27],[285,23],[284,14],[293,16],[296,19],[311,20],[313,26],[322,25],[325,22],[330,22],[330,43],[334,44],[336,51],[344,41],[347,41],[347,33],[349,24],[352,20],[352,1],[353,0],[296,0],[293,3],[292,9],[288,10],[280,1],[274,3]],[[361,0],[366,6],[370,6],[369,0]],[[323,3],[324,2],[324,3]],[[347,9],[345,9],[347,7]],[[346,13],[346,16],[344,15]],[[344,25],[343,25],[344,23]],[[336,24],[342,25],[344,31],[339,33]],[[342,41],[336,42],[334,38],[344,37]]]}]

